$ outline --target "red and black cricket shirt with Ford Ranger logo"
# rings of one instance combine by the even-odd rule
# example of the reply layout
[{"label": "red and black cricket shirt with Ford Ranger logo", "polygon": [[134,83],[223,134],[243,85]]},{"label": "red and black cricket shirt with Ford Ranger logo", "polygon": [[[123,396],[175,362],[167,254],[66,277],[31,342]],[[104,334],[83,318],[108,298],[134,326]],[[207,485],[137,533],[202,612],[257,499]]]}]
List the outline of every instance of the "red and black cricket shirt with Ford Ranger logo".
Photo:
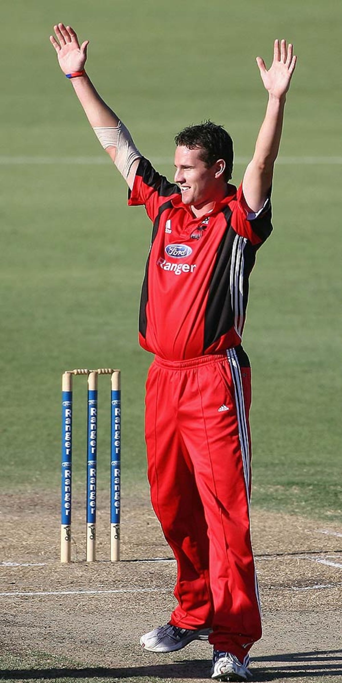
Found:
[{"label": "red and black cricket shirt with Ford Ranger logo", "polygon": [[176,184],[140,160],[129,206],[144,205],[153,222],[142,284],[139,341],[170,360],[222,352],[241,342],[256,251],[272,232],[270,201],[247,219],[242,186],[200,219]]}]

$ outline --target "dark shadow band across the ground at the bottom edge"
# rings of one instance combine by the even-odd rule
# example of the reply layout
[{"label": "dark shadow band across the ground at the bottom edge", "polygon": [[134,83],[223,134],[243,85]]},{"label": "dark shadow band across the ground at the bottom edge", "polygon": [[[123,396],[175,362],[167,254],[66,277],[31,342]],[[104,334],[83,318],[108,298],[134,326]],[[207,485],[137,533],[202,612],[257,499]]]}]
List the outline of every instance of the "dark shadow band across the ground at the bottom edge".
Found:
[{"label": "dark shadow band across the ground at the bottom edge", "polygon": [[[258,664],[261,665],[258,667]],[[44,680],[57,678],[136,678],[156,676],[161,679],[183,680],[208,679],[208,660],[181,660],[172,663],[151,664],[139,667],[108,668],[85,667],[83,669],[61,667],[59,669],[6,669],[0,671],[0,680]],[[253,658],[253,680],[273,681],[279,678],[314,678],[342,675],[342,650],[320,650],[315,652],[294,652],[271,654]]]}]

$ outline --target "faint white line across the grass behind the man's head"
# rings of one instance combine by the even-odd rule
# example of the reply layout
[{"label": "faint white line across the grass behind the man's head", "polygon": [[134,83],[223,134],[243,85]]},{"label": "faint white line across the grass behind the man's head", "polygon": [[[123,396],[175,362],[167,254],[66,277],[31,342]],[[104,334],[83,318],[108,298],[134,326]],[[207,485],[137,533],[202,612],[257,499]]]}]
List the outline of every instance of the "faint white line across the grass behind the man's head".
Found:
[{"label": "faint white line across the grass behind the man's head", "polygon": [[[234,163],[247,164],[251,161],[249,156],[236,156]],[[153,164],[173,164],[171,156],[151,157]],[[109,164],[108,156],[0,156],[0,165],[102,165]],[[279,156],[277,165],[341,165],[342,156]]]}]

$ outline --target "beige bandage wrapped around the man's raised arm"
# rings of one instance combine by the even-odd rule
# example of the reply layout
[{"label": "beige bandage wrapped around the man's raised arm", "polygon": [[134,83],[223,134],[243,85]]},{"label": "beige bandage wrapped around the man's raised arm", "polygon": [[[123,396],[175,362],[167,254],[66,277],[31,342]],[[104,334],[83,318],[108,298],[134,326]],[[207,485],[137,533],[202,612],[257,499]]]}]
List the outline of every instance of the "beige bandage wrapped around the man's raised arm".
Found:
[{"label": "beige bandage wrapped around the man's raised arm", "polygon": [[[136,148],[125,124],[119,121],[117,126],[93,126],[93,131],[104,150],[108,152],[114,161],[121,176],[131,186],[138,167],[138,163],[134,162],[137,162],[142,154]],[[134,171],[133,178],[131,178],[132,171]]]}]

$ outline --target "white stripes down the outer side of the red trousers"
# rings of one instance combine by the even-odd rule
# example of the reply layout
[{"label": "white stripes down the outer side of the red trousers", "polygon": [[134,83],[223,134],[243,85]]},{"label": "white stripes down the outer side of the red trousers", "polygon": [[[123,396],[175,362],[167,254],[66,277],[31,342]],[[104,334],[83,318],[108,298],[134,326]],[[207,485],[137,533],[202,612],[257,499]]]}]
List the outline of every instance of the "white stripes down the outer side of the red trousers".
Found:
[{"label": "white stripes down the outer side of the red trousers", "polygon": [[[238,357],[236,356],[236,351],[234,348],[227,349],[228,362],[230,364],[230,372],[232,373],[232,380],[234,383],[235,392],[235,403],[236,403],[236,415],[238,417],[238,436],[240,438],[241,456],[243,458],[243,472],[245,475],[245,485],[247,494],[247,504],[249,511],[249,480],[251,475],[250,467],[250,453],[249,453],[249,438],[248,438],[248,428],[247,428],[247,418],[245,410],[245,400],[243,396],[243,380],[240,373],[240,365],[238,364]],[[255,596],[258,601],[258,607],[261,616],[261,604],[259,596],[258,587],[258,577],[254,570],[254,585],[255,585]]]}]

